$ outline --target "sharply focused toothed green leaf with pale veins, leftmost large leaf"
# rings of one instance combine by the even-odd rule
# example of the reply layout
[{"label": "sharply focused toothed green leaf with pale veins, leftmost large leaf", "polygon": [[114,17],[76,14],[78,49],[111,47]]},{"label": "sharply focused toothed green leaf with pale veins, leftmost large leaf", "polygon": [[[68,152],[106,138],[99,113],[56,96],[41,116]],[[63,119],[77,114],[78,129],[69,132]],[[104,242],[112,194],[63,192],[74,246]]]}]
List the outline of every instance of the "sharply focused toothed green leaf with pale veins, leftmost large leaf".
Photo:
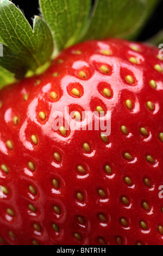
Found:
[{"label": "sharply focused toothed green leaf with pale veins, leftmost large leaf", "polygon": [[53,52],[53,38],[46,22],[35,16],[33,29],[22,12],[8,0],[0,1],[0,28],[4,53],[0,65],[22,78],[45,64]]}]

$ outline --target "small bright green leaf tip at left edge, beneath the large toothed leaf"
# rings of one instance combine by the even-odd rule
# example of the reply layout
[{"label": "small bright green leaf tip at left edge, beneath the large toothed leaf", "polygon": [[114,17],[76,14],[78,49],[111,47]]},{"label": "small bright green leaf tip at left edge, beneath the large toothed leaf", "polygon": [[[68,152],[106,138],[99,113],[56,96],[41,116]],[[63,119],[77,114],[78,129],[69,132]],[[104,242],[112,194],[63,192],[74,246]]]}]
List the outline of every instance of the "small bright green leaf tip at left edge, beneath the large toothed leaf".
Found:
[{"label": "small bright green leaf tip at left edge, beneath the large toothed leaf", "polygon": [[14,82],[14,74],[11,74],[8,70],[5,70],[0,66],[0,89]]}]

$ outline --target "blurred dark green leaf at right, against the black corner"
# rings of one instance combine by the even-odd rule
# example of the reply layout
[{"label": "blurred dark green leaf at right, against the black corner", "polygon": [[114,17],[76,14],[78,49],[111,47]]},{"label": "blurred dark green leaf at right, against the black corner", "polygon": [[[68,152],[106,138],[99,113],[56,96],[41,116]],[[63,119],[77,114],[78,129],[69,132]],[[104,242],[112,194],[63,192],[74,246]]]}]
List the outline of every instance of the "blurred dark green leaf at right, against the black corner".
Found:
[{"label": "blurred dark green leaf at right, against the black corner", "polygon": [[[83,39],[116,36],[131,39],[159,0],[96,0]],[[132,38],[133,39],[133,38]]]}]

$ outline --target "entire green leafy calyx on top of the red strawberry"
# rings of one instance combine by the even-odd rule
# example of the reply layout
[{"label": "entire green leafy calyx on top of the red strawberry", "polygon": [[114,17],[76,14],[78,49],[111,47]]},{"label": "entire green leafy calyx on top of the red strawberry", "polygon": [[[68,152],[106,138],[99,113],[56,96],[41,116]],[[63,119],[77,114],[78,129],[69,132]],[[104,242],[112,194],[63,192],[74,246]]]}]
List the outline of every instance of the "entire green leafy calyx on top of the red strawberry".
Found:
[{"label": "entire green leafy calyx on top of the red strawberry", "polygon": [[1,0],[0,89],[45,71],[62,49],[77,42],[112,36],[135,39],[158,3],[39,0],[41,14],[34,17],[32,28],[14,3]]}]

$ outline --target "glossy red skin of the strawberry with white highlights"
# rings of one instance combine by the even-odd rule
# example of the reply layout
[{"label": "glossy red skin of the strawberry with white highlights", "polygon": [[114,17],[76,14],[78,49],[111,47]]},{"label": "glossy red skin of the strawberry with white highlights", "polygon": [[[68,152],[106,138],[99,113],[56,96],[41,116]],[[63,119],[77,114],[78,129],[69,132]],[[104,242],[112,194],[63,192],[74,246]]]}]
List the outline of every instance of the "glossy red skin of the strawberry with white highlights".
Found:
[{"label": "glossy red skin of the strawberry with white highlights", "polygon": [[[132,50],[133,45],[139,51]],[[159,139],[163,132],[163,74],[154,69],[156,64],[163,68],[163,62],[157,55],[155,47],[120,39],[84,42],[63,51],[44,74],[1,91],[0,166],[7,164],[9,168],[7,174],[0,170],[0,185],[9,190],[0,199],[2,243],[163,245],[158,228],[163,227],[163,199],[159,198],[159,186],[163,185],[163,142]],[[131,63],[130,57],[138,63]],[[102,65],[109,72],[101,72]],[[85,78],[79,76],[81,70]],[[126,81],[127,75],[134,78],[133,84]],[[156,89],[149,85],[151,80],[156,81]],[[78,83],[80,96],[72,95],[72,83]],[[104,88],[110,89],[110,97],[103,94]],[[53,91],[57,100],[51,98]],[[29,95],[26,101],[25,94]],[[133,103],[131,109],[125,103],[128,99]],[[148,101],[153,102],[153,111],[147,108]],[[67,106],[79,112],[95,111],[97,106],[111,111],[108,143],[102,141],[101,131],[67,131],[66,136],[54,131],[54,111],[64,113]],[[45,120],[39,117],[41,111],[46,113]],[[13,123],[15,116],[19,118],[17,125]],[[121,131],[122,125],[127,127],[127,135]],[[140,133],[141,127],[148,136]],[[32,135],[37,135],[38,144],[32,142]],[[14,149],[7,147],[8,140]],[[90,153],[83,149],[85,142]],[[55,152],[60,154],[60,162],[54,158]],[[127,160],[124,153],[133,159]],[[154,163],[146,160],[147,155]],[[29,161],[34,162],[34,170],[28,167]],[[111,174],[106,172],[106,164]],[[85,174],[78,172],[78,165],[85,168]],[[127,184],[125,177],[132,184]],[[145,185],[145,178],[151,186]],[[58,179],[58,188],[53,179]],[[36,189],[35,195],[29,191],[30,185]],[[104,190],[105,197],[99,195],[99,189]],[[83,202],[77,198],[78,192],[83,193]],[[128,199],[128,205],[122,197]],[[29,210],[29,204],[37,211]],[[60,214],[54,205],[59,206]],[[7,208],[14,210],[15,216],[10,216]],[[106,221],[100,220],[99,214],[104,214]],[[82,223],[79,216],[84,217]],[[126,219],[127,226],[121,218]],[[141,227],[141,221],[147,229]],[[39,231],[34,224],[39,224]],[[58,225],[58,231],[53,224]],[[74,233],[78,233],[76,237]]]}]

